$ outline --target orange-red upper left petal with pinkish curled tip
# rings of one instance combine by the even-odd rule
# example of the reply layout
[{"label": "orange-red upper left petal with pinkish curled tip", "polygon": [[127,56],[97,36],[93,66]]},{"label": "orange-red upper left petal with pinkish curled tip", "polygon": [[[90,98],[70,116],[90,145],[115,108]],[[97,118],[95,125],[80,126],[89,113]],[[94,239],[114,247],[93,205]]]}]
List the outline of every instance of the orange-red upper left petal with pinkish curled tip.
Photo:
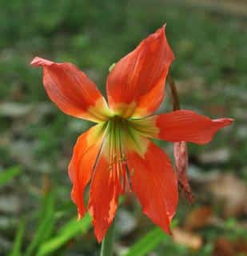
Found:
[{"label": "orange-red upper left petal with pinkish curled tip", "polygon": [[46,93],[64,113],[94,122],[106,120],[109,112],[106,100],[94,82],[76,66],[39,57],[31,65],[43,67]]}]

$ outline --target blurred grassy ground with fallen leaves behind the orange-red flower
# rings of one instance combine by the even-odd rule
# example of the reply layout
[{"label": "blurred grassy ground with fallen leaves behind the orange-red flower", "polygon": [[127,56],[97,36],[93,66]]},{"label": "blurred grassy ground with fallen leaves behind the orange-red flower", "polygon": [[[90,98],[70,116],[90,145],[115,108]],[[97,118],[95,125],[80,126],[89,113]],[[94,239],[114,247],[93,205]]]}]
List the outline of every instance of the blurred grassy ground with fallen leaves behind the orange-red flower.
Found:
[{"label": "blurred grassy ground with fallen leaves behind the orange-red flower", "polygon": [[[173,238],[128,195],[116,255],[246,255],[247,2],[0,0],[0,255],[98,255],[90,218],[76,221],[67,175],[83,122],[47,98],[38,55],[73,62],[105,94],[108,68],[167,23],[182,108],[236,122],[189,145],[195,202],[181,196]],[[171,110],[169,90],[161,110]],[[171,154],[171,143],[161,144]],[[148,186],[148,184],[147,184]]]}]

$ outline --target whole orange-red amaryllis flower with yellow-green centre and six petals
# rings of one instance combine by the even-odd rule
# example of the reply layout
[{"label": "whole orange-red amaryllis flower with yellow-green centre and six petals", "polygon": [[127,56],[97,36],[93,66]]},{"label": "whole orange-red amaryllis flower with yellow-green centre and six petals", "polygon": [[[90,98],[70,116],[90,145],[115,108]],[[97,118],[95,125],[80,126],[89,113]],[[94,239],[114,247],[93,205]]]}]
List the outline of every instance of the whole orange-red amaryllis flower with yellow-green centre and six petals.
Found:
[{"label": "whole orange-red amaryllis flower with yellow-green centre and six petals", "polygon": [[96,123],[78,137],[69,175],[79,218],[86,213],[83,194],[90,182],[88,209],[99,242],[127,187],[137,195],[143,212],[170,233],[177,208],[177,176],[167,154],[149,138],[205,144],[233,121],[211,120],[190,110],[150,115],[164,98],[171,62],[173,52],[161,27],[110,71],[108,104],[94,82],[73,64],[38,57],[31,62],[43,67],[46,92],[60,110]]}]

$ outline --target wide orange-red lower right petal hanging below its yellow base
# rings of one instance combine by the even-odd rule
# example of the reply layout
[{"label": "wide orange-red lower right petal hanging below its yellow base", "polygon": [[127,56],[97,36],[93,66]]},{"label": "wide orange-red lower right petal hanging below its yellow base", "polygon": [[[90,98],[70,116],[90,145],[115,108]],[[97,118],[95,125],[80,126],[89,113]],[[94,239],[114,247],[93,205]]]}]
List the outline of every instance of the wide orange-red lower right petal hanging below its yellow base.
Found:
[{"label": "wide orange-red lower right petal hanging below its yellow base", "polygon": [[127,150],[127,165],[133,192],[143,212],[162,230],[170,233],[170,222],[177,208],[177,176],[168,156],[153,142],[143,157]]}]

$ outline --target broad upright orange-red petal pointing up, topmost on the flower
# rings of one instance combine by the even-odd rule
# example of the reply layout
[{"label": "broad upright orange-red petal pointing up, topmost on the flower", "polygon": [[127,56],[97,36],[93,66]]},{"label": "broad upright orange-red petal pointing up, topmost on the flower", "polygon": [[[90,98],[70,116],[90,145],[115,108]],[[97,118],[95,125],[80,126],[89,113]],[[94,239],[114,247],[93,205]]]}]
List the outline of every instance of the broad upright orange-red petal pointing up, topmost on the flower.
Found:
[{"label": "broad upright orange-red petal pointing up, topmost on the flower", "polygon": [[173,58],[163,26],[110,72],[107,78],[110,108],[123,117],[146,116],[156,110],[164,96],[165,77]]}]

